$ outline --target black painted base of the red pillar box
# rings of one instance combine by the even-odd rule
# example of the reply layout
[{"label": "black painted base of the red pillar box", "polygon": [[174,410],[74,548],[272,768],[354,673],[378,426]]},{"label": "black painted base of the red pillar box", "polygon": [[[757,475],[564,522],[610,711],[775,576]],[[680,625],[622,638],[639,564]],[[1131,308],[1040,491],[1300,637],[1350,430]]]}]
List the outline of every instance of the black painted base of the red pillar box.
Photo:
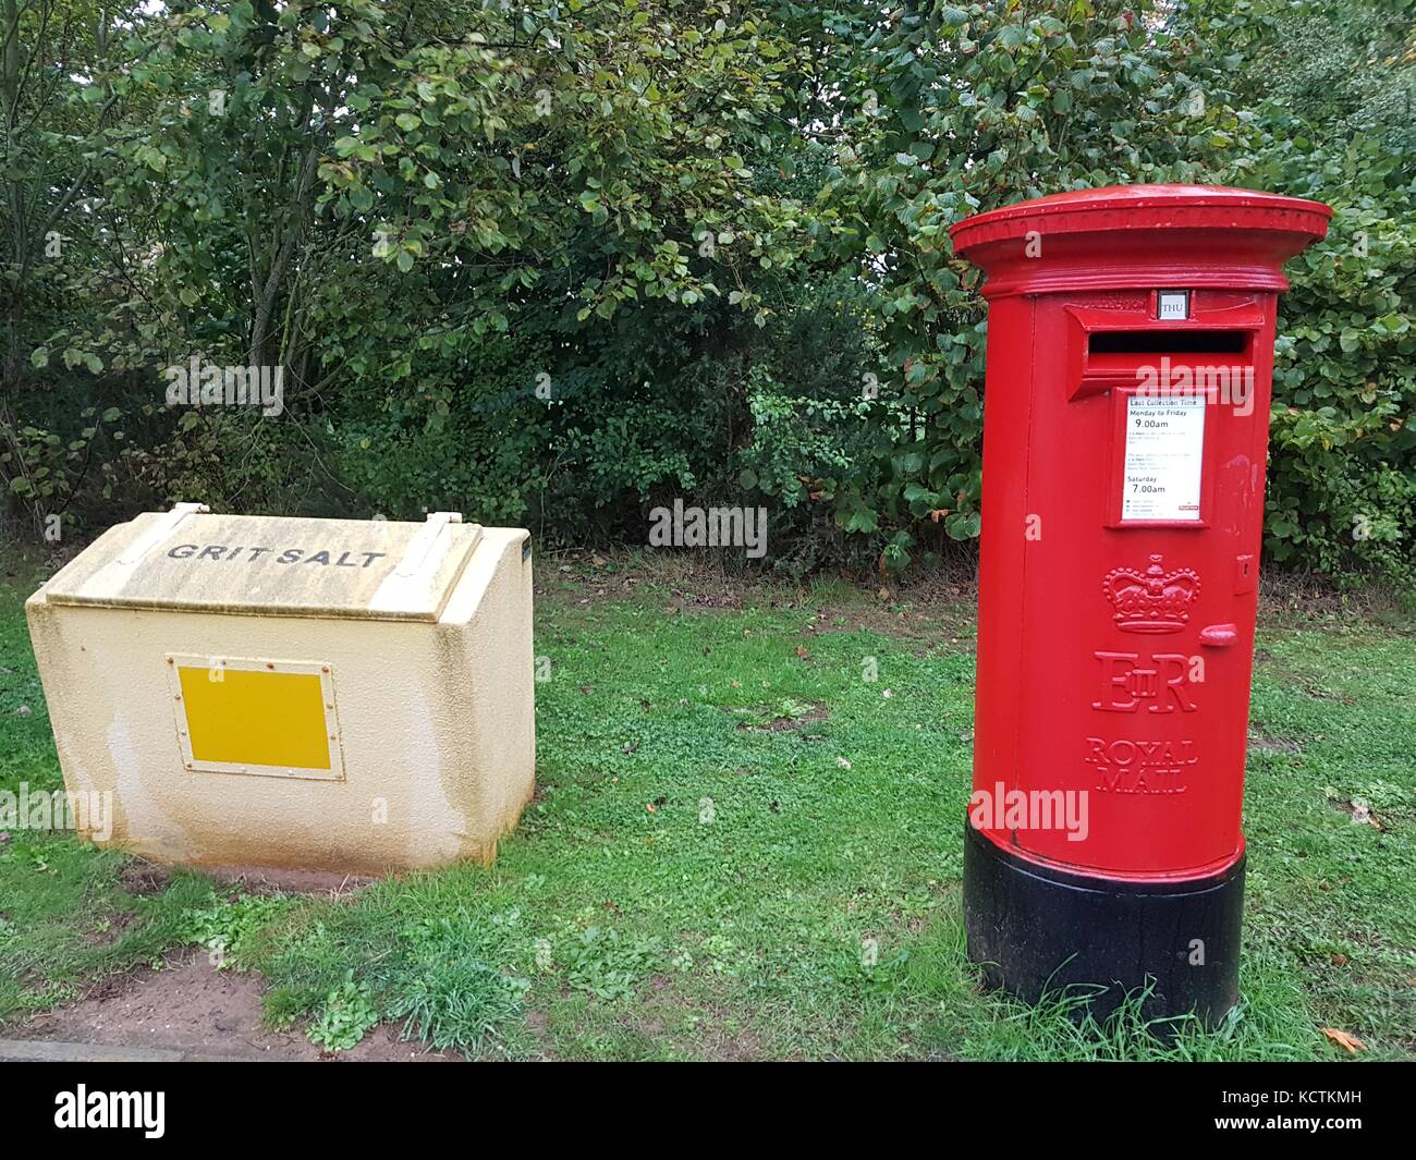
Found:
[{"label": "black painted base of the red pillar box", "polygon": [[987,986],[1035,1003],[1082,984],[1069,994],[1092,994],[1104,1018],[1153,983],[1146,1017],[1194,1011],[1208,1027],[1238,1001],[1243,857],[1208,878],[1133,882],[1052,870],[964,833],[969,957]]}]

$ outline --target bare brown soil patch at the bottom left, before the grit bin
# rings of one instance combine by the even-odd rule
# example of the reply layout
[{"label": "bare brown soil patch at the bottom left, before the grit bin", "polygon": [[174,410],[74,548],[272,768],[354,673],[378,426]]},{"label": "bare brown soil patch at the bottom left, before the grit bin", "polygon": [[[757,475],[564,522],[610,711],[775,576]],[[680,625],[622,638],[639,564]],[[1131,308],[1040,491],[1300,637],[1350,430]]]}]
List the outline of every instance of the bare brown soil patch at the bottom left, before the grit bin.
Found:
[{"label": "bare brown soil patch at the bottom left, before the grit bin", "polygon": [[68,1007],[6,1028],[20,1040],[157,1047],[198,1055],[263,1059],[446,1061],[460,1058],[399,1042],[396,1027],[375,1027],[351,1051],[327,1052],[300,1031],[261,1023],[261,979],[218,972],[205,955],[171,959],[163,970],[112,980]]}]

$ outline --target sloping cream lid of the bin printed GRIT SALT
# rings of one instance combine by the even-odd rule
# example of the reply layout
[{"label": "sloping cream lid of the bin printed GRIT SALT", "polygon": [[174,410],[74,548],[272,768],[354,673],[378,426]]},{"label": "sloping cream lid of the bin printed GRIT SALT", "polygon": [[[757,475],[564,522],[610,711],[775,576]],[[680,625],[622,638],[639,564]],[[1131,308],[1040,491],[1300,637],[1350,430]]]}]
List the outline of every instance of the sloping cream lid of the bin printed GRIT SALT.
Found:
[{"label": "sloping cream lid of the bin printed GRIT SALT", "polygon": [[430,622],[480,537],[453,511],[419,524],[177,504],[112,528],[44,593],[55,605]]}]

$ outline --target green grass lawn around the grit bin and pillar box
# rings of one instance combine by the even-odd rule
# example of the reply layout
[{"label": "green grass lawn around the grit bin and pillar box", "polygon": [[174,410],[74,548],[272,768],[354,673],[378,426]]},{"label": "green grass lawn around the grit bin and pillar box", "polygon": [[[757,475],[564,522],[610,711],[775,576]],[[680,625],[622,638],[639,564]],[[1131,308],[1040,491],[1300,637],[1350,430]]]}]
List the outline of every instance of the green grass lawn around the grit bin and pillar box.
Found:
[{"label": "green grass lawn around the grit bin and pillar box", "polygon": [[[261,972],[273,1024],[340,1047],[382,1018],[513,1058],[1337,1058],[1323,1027],[1365,1058],[1416,1054],[1410,625],[1262,630],[1243,1003],[1163,1042],[1134,1006],[1079,1025],[1065,1001],[981,993],[966,962],[966,605],[827,584],[695,610],[651,579],[598,598],[615,568],[545,569],[539,793],[491,870],[334,901],[232,902],[193,874],[135,897],[120,855],[20,831],[0,846],[0,1018],[202,942]],[[33,579],[0,588],[0,787],[59,785]]]}]

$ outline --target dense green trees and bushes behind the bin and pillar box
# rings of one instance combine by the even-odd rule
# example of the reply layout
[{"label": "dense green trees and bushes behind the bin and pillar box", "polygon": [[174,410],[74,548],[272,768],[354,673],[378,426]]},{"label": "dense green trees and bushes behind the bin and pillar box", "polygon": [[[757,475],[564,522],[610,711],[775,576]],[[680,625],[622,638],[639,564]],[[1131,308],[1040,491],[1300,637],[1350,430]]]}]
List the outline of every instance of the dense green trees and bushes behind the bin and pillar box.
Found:
[{"label": "dense green trees and bushes behind the bin and pillar box", "polygon": [[[1383,0],[0,0],[0,490],[452,507],[770,559],[978,531],[984,312],[947,228],[1085,186],[1317,197],[1266,547],[1412,575],[1416,37]],[[279,414],[170,368],[283,371]]]}]

